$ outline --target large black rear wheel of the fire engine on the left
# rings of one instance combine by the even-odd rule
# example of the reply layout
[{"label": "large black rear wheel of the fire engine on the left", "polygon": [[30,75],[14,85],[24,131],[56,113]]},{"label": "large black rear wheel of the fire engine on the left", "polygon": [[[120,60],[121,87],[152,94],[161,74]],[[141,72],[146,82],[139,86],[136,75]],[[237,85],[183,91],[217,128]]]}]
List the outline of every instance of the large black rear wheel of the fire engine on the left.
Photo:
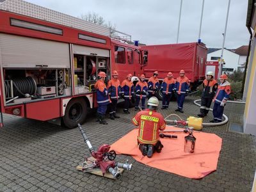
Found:
[{"label": "large black rear wheel of the fire engine on the left", "polygon": [[87,104],[83,98],[72,99],[68,102],[63,116],[63,124],[68,129],[73,129],[77,127],[77,124],[84,122],[87,113]]}]

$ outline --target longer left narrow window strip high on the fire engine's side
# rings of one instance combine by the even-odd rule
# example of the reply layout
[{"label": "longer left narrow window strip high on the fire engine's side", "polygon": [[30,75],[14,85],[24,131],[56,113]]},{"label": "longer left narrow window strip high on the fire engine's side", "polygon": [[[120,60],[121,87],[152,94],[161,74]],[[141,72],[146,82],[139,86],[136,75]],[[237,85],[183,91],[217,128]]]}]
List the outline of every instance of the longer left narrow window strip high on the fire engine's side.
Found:
[{"label": "longer left narrow window strip high on the fire engine's side", "polygon": [[26,28],[26,29],[32,29],[32,30],[36,30],[36,31],[43,31],[46,33],[53,33],[56,35],[62,35],[62,29],[58,29],[58,28],[52,28],[49,26],[43,26],[40,24],[35,24],[33,22],[27,22],[24,20],[19,20],[19,19],[10,19],[10,24],[11,26],[16,26],[19,28]]}]

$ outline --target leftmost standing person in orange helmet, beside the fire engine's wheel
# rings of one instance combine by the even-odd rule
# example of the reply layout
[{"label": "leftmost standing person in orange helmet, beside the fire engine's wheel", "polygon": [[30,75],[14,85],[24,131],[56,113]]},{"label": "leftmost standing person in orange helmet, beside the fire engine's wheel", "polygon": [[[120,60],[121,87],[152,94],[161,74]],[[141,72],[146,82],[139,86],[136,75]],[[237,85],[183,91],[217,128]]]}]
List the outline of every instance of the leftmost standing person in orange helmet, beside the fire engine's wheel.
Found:
[{"label": "leftmost standing person in orange helmet, beside the fire engine's wheel", "polygon": [[104,83],[106,79],[105,72],[99,72],[98,77],[99,80],[94,85],[97,91],[97,121],[99,121],[100,124],[107,125],[108,123],[106,122],[104,117],[106,115],[107,106],[110,101],[108,97],[108,90],[106,84]]}]

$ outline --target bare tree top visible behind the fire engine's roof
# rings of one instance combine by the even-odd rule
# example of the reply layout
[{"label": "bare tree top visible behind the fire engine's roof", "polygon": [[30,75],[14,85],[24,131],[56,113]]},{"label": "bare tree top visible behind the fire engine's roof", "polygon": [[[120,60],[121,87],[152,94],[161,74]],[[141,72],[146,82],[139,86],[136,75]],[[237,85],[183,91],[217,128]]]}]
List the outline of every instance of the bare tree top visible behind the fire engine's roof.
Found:
[{"label": "bare tree top visible behind the fire engine's roof", "polygon": [[104,26],[106,28],[110,29],[110,34],[115,33],[116,24],[112,24],[110,21],[106,22],[106,20],[103,19],[100,15],[97,13],[88,12],[87,14],[81,15],[81,17],[78,17],[80,19],[86,20],[88,22],[92,22],[93,24],[97,24],[99,26]]}]

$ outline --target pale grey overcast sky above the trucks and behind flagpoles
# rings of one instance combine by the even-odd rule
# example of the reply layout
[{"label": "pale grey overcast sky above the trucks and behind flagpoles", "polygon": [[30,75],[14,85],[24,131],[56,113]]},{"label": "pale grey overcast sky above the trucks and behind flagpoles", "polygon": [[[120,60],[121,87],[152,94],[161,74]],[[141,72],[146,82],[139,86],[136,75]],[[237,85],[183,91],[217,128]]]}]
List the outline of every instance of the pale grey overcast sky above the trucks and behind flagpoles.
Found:
[{"label": "pale grey overcast sky above the trucks and behind flagpoles", "polygon": [[[116,24],[116,30],[132,35],[141,43],[175,44],[179,22],[180,0],[27,0],[40,6],[81,16],[95,12]],[[205,0],[201,39],[207,47],[222,46],[228,0]],[[236,49],[248,45],[246,28],[247,0],[231,0],[225,47]],[[202,0],[183,0],[179,43],[198,39]]]}]

